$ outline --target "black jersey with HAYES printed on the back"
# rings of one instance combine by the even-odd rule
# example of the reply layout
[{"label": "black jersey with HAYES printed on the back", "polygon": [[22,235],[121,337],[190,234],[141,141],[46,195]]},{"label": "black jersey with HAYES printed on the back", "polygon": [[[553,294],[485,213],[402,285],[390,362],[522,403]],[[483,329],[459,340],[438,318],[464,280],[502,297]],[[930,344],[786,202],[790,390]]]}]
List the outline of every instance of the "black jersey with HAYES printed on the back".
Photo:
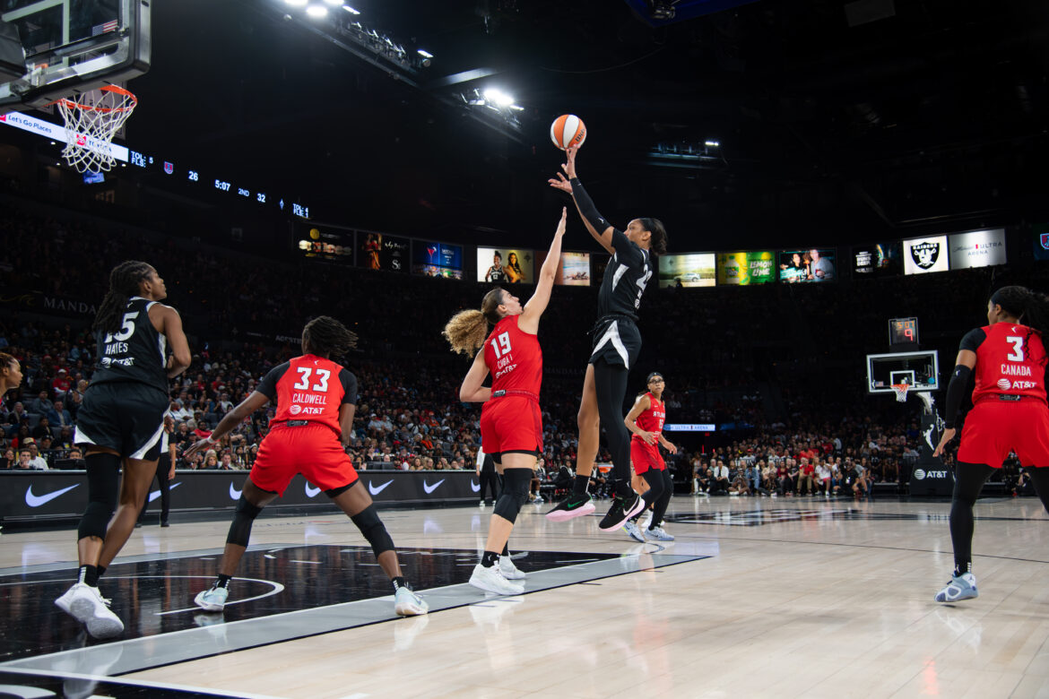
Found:
[{"label": "black jersey with HAYES printed on the back", "polygon": [[155,301],[131,297],[116,332],[95,331],[99,361],[91,385],[136,381],[168,392],[167,338],[149,320]]}]

